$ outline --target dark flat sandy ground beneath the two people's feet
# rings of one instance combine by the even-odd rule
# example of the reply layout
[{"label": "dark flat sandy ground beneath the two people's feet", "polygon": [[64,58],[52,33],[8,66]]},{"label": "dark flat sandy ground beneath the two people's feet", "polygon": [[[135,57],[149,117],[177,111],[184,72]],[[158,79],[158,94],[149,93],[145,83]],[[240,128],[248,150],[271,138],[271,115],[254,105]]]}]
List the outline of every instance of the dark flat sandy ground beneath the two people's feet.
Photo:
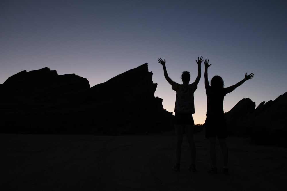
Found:
[{"label": "dark flat sandy ground beneath the two people's feet", "polygon": [[[208,142],[195,134],[197,170],[186,138],[174,172],[173,131],[142,136],[0,134],[1,190],[286,190],[287,149],[229,137],[230,174],[209,174]],[[218,168],[222,166],[217,151]]]}]

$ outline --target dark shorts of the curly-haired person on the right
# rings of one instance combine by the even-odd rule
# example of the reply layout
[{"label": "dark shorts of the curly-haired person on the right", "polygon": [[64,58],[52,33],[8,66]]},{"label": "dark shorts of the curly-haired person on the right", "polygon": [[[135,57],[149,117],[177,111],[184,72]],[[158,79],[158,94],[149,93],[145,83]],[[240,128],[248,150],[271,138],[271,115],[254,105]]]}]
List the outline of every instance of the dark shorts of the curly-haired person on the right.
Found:
[{"label": "dark shorts of the curly-haired person on the right", "polygon": [[219,139],[227,138],[226,122],[224,116],[206,117],[205,137],[216,137]]}]

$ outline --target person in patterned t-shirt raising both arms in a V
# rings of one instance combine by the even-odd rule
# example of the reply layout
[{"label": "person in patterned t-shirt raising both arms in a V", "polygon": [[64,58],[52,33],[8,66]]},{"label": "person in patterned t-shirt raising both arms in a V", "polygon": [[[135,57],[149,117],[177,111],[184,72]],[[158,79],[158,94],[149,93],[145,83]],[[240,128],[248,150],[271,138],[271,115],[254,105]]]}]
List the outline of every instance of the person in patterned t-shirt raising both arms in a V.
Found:
[{"label": "person in patterned t-shirt raising both arms in a V", "polygon": [[189,170],[196,171],[195,169],[195,144],[193,140],[193,117],[192,114],[195,113],[194,109],[194,99],[193,93],[197,89],[197,84],[201,77],[201,62],[203,61],[202,57],[198,57],[198,61],[195,60],[198,64],[198,74],[197,78],[192,84],[189,84],[190,72],[182,72],[181,79],[183,84],[178,84],[172,81],[167,74],[165,60],[161,58],[158,59],[158,63],[162,64],[164,77],[171,85],[171,88],[177,92],[175,107],[174,107],[174,128],[177,136],[177,147],[176,147],[176,165],[173,170],[180,170],[180,160],[181,160],[181,144],[183,140],[183,130],[185,130],[187,140],[191,149],[191,165]]}]

